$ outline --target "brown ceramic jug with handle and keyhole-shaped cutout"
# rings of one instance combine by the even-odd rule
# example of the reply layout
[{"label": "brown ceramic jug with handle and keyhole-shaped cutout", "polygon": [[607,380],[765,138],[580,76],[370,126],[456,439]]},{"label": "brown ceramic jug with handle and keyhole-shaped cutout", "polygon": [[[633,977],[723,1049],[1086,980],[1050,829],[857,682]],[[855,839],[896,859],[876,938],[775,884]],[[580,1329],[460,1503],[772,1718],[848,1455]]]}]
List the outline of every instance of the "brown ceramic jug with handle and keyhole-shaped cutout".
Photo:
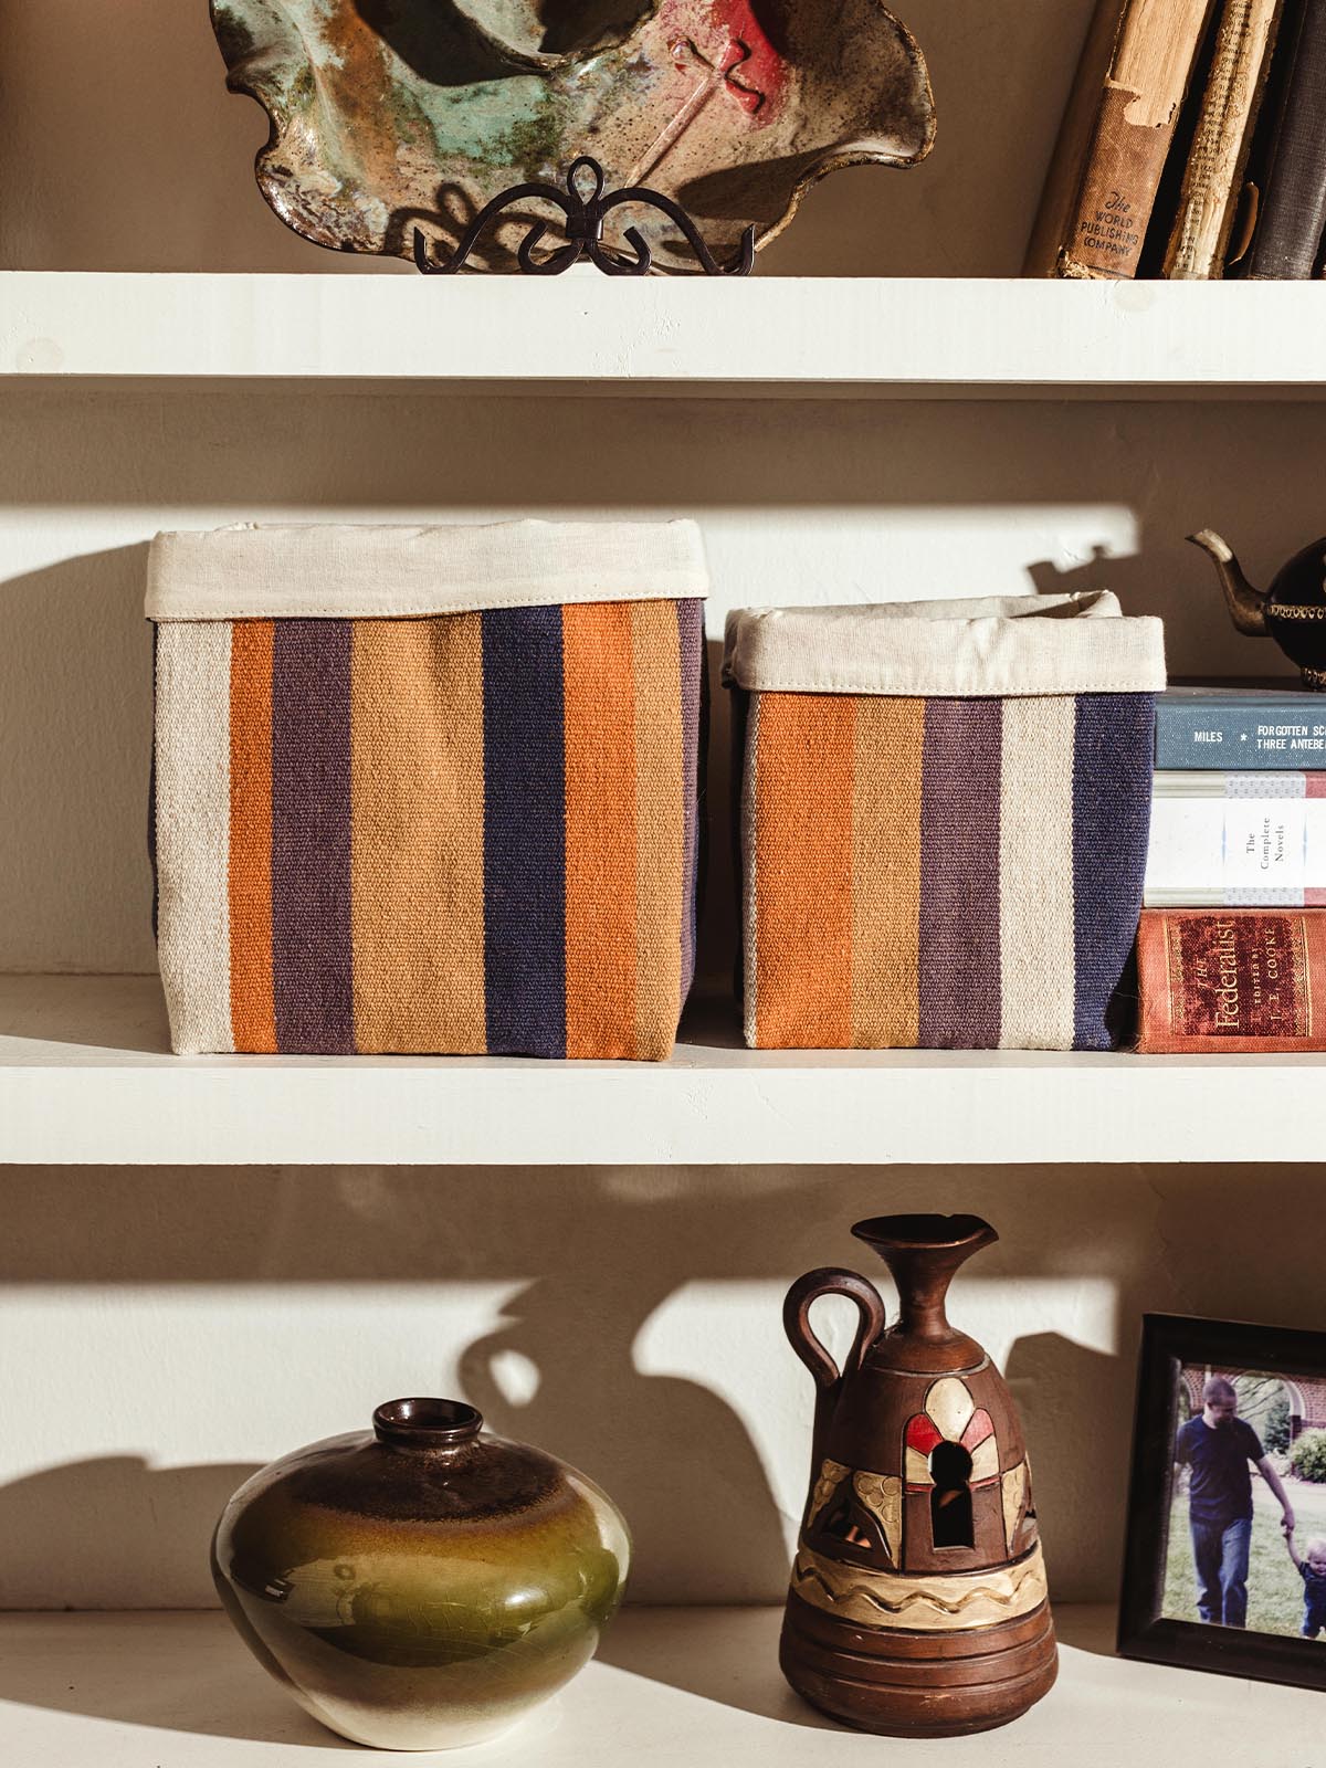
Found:
[{"label": "brown ceramic jug with handle and keyhole-shaped cutout", "polygon": [[[1057,1653],[1017,1407],[949,1326],[958,1266],[997,1234],[979,1216],[857,1222],[902,1312],[854,1271],[810,1271],[783,1322],[817,1384],[810,1499],[783,1619],[783,1674],[863,1731],[953,1736],[1017,1718]],[[810,1330],[819,1296],[861,1324],[838,1370]]]}]

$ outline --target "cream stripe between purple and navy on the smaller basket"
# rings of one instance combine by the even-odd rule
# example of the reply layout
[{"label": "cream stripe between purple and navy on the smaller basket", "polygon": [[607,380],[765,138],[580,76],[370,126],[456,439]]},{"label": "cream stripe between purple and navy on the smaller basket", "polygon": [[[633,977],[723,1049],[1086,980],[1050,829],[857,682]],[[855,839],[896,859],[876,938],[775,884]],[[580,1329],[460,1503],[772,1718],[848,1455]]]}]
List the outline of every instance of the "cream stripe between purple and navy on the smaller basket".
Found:
[{"label": "cream stripe between purple and navy on the smaller basket", "polygon": [[999,1047],[1073,1047],[1071,695],[1004,700],[999,789]]}]

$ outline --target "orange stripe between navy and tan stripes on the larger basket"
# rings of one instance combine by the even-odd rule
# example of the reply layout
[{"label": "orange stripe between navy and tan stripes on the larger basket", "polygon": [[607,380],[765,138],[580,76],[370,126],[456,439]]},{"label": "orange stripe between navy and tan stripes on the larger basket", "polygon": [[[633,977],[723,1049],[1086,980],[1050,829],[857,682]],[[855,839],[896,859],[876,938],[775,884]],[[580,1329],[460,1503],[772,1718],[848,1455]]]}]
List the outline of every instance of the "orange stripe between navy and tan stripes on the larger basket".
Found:
[{"label": "orange stripe between navy and tan stripes on the larger basket", "polygon": [[566,670],[566,1054],[636,1055],[631,605],[569,605]]}]

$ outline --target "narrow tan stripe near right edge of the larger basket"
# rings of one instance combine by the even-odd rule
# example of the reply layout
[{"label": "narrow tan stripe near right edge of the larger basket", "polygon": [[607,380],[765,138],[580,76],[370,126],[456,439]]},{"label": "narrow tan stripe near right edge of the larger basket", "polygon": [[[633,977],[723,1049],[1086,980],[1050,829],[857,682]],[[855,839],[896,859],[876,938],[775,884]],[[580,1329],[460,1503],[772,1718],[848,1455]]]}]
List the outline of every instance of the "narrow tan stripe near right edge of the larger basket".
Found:
[{"label": "narrow tan stripe near right edge of the larger basket", "polygon": [[681,1011],[681,633],[672,601],[631,603],[635,677],[635,1054],[672,1054]]}]

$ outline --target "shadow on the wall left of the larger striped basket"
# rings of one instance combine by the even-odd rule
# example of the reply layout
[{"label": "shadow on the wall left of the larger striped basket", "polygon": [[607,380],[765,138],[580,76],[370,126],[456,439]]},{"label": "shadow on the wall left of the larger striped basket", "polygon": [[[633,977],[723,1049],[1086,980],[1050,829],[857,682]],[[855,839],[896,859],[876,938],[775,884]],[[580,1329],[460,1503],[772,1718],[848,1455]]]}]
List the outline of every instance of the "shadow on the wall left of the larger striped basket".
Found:
[{"label": "shadow on the wall left of the larger striped basket", "polygon": [[145,568],[117,546],[0,583],[0,971],[156,969]]}]

